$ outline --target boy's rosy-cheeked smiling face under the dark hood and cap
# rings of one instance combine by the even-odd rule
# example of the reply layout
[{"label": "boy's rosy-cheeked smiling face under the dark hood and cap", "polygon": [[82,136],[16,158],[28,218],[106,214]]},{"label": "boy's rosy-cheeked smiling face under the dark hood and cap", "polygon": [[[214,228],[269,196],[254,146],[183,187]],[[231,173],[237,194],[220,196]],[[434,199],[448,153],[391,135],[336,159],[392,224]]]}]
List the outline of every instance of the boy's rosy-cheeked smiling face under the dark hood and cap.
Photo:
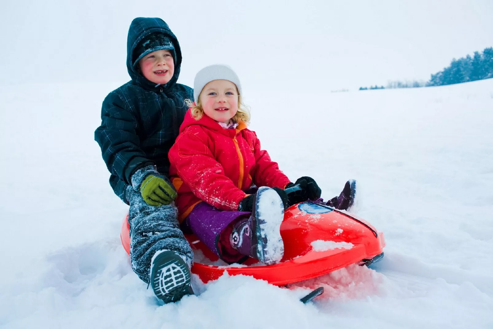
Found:
[{"label": "boy's rosy-cheeked smiling face under the dark hood and cap", "polygon": [[173,54],[169,50],[156,50],[139,60],[142,75],[154,83],[166,84],[175,73]]}]

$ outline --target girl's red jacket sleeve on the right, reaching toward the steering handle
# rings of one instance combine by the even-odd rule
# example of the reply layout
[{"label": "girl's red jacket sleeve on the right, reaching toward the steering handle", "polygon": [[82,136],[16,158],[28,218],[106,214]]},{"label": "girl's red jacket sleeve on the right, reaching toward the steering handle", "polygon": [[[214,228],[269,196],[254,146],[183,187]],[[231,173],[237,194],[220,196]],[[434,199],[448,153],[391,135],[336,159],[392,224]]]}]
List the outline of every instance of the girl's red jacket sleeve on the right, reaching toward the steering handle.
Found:
[{"label": "girl's red jacket sleeve on the right, reaching toward the steering handle", "polygon": [[279,169],[277,162],[271,160],[269,153],[260,148],[260,140],[253,132],[255,138],[253,140],[253,155],[255,157],[255,165],[252,169],[253,183],[256,186],[279,187],[284,189],[289,178]]}]

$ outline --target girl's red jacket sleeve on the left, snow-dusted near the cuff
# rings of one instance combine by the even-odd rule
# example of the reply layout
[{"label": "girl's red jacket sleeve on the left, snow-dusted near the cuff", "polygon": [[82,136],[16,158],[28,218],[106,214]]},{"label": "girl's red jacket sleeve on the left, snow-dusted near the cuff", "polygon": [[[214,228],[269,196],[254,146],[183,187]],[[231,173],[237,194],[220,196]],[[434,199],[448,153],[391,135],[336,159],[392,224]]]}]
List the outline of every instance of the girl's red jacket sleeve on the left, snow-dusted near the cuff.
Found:
[{"label": "girl's red jacket sleeve on the left, snow-dusted near the cuff", "polygon": [[246,194],[224,175],[224,168],[207,146],[205,133],[195,129],[180,133],[168,156],[195,196],[221,210],[238,210]]}]

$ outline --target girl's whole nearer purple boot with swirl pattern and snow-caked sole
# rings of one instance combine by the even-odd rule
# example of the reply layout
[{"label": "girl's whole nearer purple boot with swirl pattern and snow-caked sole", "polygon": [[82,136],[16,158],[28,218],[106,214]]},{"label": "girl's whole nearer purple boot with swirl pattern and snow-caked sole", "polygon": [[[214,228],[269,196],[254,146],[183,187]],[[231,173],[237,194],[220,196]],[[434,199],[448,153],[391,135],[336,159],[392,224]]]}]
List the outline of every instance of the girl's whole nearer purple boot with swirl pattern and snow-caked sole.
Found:
[{"label": "girl's whole nearer purple boot with swirl pattern and snow-caked sole", "polygon": [[233,227],[231,246],[264,264],[279,263],[284,255],[283,218],[284,206],[279,194],[269,187],[260,187],[254,195],[250,217],[241,218]]}]

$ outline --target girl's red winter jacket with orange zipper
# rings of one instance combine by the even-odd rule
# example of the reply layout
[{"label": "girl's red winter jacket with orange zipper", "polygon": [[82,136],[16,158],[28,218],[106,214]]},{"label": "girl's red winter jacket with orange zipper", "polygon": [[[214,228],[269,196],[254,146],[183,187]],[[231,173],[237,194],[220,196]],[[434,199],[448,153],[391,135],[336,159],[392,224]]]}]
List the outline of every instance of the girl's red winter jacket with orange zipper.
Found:
[{"label": "girl's red winter jacket with orange zipper", "polygon": [[289,183],[243,122],[226,129],[206,115],[195,120],[189,110],[168,155],[180,222],[201,201],[238,210],[252,184],[283,189]]}]

